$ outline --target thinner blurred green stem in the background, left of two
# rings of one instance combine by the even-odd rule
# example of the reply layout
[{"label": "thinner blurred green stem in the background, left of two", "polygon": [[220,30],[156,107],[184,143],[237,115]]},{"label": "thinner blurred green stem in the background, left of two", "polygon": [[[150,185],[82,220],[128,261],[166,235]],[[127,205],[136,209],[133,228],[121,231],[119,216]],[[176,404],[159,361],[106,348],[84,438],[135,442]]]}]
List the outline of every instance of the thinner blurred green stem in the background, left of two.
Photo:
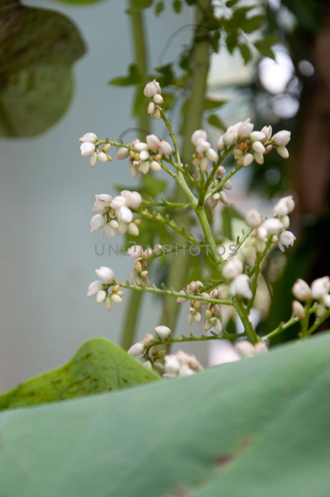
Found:
[{"label": "thinner blurred green stem in the background, left of two", "polygon": [[[141,74],[141,87],[138,87],[138,91],[143,91],[144,83],[147,81],[147,49],[145,42],[145,30],[143,22],[142,10],[134,10],[134,0],[129,0],[129,8],[132,9],[131,16],[131,33],[132,33],[132,44],[134,47],[134,60],[139,68]],[[143,106],[138,115],[138,126],[142,130],[141,138],[144,139],[145,133],[143,130],[148,130],[149,128],[149,116]],[[124,349],[128,350],[133,343],[134,334],[139,320],[139,314],[141,311],[143,300],[142,292],[132,292],[129,297],[129,302],[127,304],[128,312],[125,316],[125,321],[123,324],[121,332],[121,345]]]}]

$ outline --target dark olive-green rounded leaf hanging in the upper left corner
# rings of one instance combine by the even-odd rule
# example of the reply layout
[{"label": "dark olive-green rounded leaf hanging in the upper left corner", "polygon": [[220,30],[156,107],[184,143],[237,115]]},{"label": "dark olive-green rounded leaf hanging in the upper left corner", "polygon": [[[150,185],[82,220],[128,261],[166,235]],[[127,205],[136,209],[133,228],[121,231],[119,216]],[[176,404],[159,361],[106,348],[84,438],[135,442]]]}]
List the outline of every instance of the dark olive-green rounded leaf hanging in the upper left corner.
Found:
[{"label": "dark olive-green rounded leaf hanging in the upper left corner", "polygon": [[64,15],[18,1],[1,4],[0,24],[0,135],[37,135],[70,103],[83,40]]}]

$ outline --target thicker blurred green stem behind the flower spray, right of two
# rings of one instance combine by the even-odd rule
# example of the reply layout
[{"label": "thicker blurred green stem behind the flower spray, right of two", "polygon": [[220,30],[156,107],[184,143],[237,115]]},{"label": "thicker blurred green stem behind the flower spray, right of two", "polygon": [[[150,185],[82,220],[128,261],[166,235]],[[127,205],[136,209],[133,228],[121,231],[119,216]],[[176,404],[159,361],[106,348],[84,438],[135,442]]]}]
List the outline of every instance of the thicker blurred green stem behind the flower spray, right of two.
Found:
[{"label": "thicker blurred green stem behind the flower spray, right of two", "polygon": [[[193,145],[190,141],[192,133],[200,128],[203,111],[204,111],[204,96],[206,91],[206,81],[209,72],[209,59],[210,59],[210,44],[208,41],[208,32],[205,32],[204,39],[198,39],[201,31],[203,30],[203,25],[205,25],[204,17],[205,12],[211,5],[211,0],[200,0],[198,5],[195,7],[195,39],[193,47],[193,73],[191,78],[191,96],[189,99],[187,116],[184,123],[184,135],[182,143],[182,162],[183,164],[189,163],[191,161],[191,156],[194,152]],[[179,185],[176,187],[175,191],[175,201],[183,202],[185,200],[185,195],[182,192]],[[187,231],[189,231],[189,218],[185,211],[178,212],[174,218],[177,226],[185,225]],[[182,243],[182,238],[179,235],[173,237],[173,244]],[[167,285],[168,287],[182,288],[185,285],[187,272],[189,269],[189,256],[178,254],[173,257],[173,261],[170,265]],[[163,301],[164,309],[161,323],[168,326],[174,333],[178,313],[179,305],[175,300],[168,297],[164,297]]]}]

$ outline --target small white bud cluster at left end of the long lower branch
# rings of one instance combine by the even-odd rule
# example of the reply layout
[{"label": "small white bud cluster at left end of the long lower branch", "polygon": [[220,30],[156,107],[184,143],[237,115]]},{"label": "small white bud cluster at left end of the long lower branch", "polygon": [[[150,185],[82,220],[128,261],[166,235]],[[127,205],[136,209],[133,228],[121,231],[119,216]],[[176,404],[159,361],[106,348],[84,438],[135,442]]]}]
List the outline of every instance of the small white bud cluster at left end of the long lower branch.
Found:
[{"label": "small white bud cluster at left end of the long lower branch", "polygon": [[101,266],[98,269],[95,269],[95,273],[107,284],[104,284],[98,280],[92,281],[88,286],[87,297],[96,297],[97,304],[101,304],[103,302],[105,308],[108,311],[111,311],[112,303],[122,303],[122,296],[124,295],[124,292],[120,290],[119,285],[109,285],[109,283],[112,283],[115,279],[114,272],[109,267]]}]

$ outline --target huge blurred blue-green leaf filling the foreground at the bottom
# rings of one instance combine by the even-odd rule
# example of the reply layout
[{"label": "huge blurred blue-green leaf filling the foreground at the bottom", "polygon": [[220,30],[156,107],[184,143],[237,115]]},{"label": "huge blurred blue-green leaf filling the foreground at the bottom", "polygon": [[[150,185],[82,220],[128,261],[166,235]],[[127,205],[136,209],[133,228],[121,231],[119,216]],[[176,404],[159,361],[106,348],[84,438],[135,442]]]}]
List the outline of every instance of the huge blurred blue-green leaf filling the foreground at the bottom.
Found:
[{"label": "huge blurred blue-green leaf filling the foreground at the bottom", "polygon": [[0,414],[5,497],[328,497],[330,334]]}]

